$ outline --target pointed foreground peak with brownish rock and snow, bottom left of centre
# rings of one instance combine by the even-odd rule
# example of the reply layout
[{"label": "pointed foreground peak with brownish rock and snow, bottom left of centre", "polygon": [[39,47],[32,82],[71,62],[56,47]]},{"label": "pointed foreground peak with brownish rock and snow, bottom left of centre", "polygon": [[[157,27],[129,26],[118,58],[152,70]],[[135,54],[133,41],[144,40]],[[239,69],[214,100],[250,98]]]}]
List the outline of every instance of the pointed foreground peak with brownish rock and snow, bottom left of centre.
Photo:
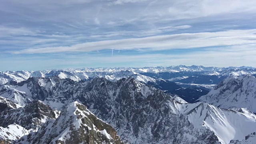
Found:
[{"label": "pointed foreground peak with brownish rock and snow, bottom left of centre", "polygon": [[72,102],[60,116],[48,120],[37,132],[14,143],[18,144],[122,144],[116,131],[98,119],[86,106]]}]

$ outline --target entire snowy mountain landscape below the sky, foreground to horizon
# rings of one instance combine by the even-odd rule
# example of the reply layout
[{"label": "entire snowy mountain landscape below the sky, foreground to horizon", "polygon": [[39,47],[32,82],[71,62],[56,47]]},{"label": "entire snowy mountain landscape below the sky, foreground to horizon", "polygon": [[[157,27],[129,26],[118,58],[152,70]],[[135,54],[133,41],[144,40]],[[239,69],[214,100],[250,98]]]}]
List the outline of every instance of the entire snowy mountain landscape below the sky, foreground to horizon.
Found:
[{"label": "entire snowy mountain landscape below the sky, foreground to horizon", "polygon": [[[254,74],[250,67],[1,74],[1,144],[250,144],[255,138],[256,78],[248,75]],[[178,82],[206,84],[207,76],[220,82],[213,79],[207,90]]]}]

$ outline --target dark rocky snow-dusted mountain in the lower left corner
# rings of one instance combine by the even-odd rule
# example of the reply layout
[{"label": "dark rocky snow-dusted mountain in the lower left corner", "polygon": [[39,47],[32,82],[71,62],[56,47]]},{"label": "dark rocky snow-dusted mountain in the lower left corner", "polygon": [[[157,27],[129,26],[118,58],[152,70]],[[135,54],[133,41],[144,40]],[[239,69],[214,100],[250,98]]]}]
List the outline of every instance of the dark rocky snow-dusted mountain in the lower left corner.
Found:
[{"label": "dark rocky snow-dusted mountain in the lower left corner", "polygon": [[0,97],[0,143],[9,144],[31,131],[36,131],[48,119],[58,117],[58,111],[35,100],[25,107]]}]

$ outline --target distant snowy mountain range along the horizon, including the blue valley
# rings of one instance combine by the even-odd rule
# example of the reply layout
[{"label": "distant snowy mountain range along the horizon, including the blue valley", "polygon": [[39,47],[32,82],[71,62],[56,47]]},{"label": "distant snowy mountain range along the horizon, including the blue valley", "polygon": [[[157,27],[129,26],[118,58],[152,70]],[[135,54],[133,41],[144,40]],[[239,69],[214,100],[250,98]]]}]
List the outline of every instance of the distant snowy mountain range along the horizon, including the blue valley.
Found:
[{"label": "distant snowy mountain range along the horizon, including the blue valley", "polygon": [[78,68],[62,70],[42,70],[42,71],[6,71],[0,72],[0,84],[9,81],[21,82],[30,77],[52,77],[70,78],[74,81],[90,80],[100,77],[107,80],[116,81],[121,78],[134,77],[141,82],[156,82],[162,78],[176,82],[182,87],[197,87],[210,90],[221,80],[230,75],[243,76],[246,74],[256,74],[256,68],[242,67],[204,67],[204,66],[169,66],[169,67],[144,67],[144,68]]}]

